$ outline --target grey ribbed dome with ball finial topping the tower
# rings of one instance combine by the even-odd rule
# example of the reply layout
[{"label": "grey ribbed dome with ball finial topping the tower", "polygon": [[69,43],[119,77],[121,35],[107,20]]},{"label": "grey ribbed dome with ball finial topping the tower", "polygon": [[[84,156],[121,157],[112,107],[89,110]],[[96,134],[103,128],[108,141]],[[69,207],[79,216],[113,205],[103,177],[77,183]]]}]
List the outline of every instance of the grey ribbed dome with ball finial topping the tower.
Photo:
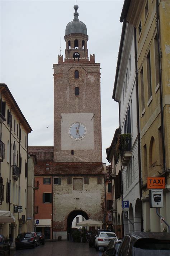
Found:
[{"label": "grey ribbed dome with ball finial topping the tower", "polygon": [[79,20],[78,16],[79,13],[77,13],[77,9],[79,6],[77,4],[74,5],[75,13],[74,13],[74,20],[69,22],[66,26],[66,35],[70,34],[84,34],[87,35],[87,28],[86,25]]}]

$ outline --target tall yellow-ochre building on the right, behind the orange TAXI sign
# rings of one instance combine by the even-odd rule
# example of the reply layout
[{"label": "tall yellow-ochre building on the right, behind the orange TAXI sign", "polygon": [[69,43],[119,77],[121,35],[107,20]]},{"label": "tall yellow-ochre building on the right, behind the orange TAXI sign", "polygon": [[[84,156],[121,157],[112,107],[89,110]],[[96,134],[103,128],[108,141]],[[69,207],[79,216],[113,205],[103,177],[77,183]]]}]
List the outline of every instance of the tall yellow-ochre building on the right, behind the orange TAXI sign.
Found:
[{"label": "tall yellow-ochre building on the right, behind the orange TAXI sign", "polygon": [[160,215],[170,224],[170,1],[124,1],[121,22],[135,27],[144,231],[167,227],[149,206],[147,177],[165,177]]}]

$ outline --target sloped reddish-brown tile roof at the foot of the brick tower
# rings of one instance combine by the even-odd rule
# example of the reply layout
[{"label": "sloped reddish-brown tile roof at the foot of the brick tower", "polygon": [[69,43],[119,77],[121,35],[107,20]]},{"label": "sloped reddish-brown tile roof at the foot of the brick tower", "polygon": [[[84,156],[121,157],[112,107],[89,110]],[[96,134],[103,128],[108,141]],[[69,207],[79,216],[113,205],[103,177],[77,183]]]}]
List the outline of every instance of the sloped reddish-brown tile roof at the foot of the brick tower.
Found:
[{"label": "sloped reddish-brown tile roof at the foot of the brick tower", "polygon": [[38,160],[35,175],[104,175],[101,162],[56,163]]}]

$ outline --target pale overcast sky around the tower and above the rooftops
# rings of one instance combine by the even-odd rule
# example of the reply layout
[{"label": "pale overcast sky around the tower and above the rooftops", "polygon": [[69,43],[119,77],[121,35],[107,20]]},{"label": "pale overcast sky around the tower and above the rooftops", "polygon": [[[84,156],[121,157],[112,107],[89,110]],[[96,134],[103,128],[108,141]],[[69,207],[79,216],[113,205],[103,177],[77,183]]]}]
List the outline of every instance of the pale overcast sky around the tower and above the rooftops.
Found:
[{"label": "pale overcast sky around the tower and above the rooftops", "polygon": [[[87,27],[88,51],[101,63],[103,163],[119,127],[118,103],[112,99],[122,23],[123,0],[77,0]],[[8,85],[33,132],[29,146],[53,146],[53,69],[75,1],[0,1],[0,82]],[[61,42],[61,43],[60,43]],[[46,128],[48,127],[48,128]]]}]

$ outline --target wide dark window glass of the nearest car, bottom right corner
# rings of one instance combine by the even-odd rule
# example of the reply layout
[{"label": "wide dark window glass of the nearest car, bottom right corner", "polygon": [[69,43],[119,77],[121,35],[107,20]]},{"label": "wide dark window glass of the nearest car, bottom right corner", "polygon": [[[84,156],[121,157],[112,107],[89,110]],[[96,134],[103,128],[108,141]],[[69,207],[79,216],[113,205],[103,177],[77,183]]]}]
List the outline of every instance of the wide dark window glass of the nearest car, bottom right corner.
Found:
[{"label": "wide dark window glass of the nearest car, bottom right corner", "polygon": [[[133,247],[134,256],[150,255],[150,256],[169,256],[170,255],[170,241],[160,241],[157,239],[140,239]],[[144,240],[144,241],[142,241]]]}]

